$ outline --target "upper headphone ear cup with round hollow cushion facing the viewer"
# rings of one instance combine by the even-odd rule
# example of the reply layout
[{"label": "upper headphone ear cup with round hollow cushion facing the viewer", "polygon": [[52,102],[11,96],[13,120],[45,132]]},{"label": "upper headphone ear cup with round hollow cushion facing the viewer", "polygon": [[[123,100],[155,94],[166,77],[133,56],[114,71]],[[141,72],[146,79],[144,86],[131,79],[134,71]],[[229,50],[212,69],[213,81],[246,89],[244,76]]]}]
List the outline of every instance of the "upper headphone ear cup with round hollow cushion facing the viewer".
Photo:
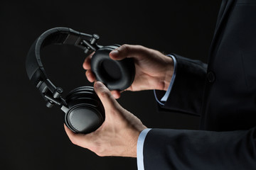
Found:
[{"label": "upper headphone ear cup with round hollow cushion facing the viewer", "polygon": [[110,52],[117,48],[110,45],[100,48],[92,56],[91,68],[98,81],[102,81],[108,89],[122,91],[132,85],[135,75],[134,61],[131,58],[112,60]]}]

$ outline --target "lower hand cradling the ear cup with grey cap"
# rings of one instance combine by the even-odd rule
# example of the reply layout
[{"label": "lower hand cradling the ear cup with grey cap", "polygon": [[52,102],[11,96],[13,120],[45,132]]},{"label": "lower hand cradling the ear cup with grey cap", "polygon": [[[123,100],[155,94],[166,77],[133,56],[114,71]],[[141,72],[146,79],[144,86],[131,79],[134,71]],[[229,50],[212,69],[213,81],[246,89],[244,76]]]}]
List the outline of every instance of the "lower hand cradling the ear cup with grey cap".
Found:
[{"label": "lower hand cradling the ear cup with grey cap", "polygon": [[137,157],[137,140],[146,127],[117,103],[104,84],[97,81],[94,88],[105,108],[105,122],[87,135],[75,134],[65,126],[68,137],[99,156]]}]

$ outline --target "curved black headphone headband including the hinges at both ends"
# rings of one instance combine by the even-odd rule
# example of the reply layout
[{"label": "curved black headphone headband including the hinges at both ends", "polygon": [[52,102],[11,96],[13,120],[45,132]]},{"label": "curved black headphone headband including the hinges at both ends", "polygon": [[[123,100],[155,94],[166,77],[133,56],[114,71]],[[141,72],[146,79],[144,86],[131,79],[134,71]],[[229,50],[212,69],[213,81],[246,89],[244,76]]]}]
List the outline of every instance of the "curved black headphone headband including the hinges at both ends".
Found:
[{"label": "curved black headphone headband including the hinges at both ends", "polygon": [[46,104],[48,107],[52,106],[53,103],[58,105],[63,103],[60,101],[60,94],[63,90],[56,88],[47,78],[41,62],[41,49],[48,45],[75,45],[89,55],[100,48],[100,45],[96,44],[99,38],[97,34],[90,35],[70,28],[58,27],[47,30],[33,42],[26,57],[26,72],[28,78],[39,89],[46,101],[50,101]]}]

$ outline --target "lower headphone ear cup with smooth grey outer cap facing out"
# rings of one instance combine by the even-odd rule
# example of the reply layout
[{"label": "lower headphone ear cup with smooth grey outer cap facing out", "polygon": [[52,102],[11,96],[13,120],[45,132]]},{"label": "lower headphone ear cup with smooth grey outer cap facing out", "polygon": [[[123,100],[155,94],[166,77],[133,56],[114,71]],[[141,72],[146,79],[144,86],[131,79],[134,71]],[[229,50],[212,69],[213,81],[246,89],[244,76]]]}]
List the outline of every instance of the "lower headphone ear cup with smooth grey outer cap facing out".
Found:
[{"label": "lower headphone ear cup with smooth grey outer cap facing out", "polygon": [[90,133],[104,122],[105,110],[92,87],[82,86],[70,91],[65,101],[69,108],[65,125],[73,132]]}]

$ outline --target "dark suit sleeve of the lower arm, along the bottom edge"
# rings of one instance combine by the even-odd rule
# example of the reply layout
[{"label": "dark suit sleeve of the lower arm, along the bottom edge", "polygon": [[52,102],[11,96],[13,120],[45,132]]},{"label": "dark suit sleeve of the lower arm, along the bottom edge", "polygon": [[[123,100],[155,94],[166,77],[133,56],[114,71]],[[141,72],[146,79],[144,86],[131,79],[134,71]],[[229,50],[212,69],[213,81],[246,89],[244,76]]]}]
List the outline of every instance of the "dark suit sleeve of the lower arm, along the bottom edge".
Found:
[{"label": "dark suit sleeve of the lower arm, along the bottom edge", "polygon": [[144,169],[256,169],[256,132],[152,129],[144,141]]}]

